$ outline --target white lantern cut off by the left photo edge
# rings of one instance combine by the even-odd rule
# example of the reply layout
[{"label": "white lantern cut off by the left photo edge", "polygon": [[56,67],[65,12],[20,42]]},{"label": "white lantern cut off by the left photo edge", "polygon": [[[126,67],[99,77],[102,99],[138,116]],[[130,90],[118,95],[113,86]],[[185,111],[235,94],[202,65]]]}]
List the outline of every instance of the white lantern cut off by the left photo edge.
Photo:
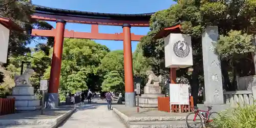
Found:
[{"label": "white lantern cut off by the left photo edge", "polygon": [[0,24],[0,63],[6,63],[10,30]]}]

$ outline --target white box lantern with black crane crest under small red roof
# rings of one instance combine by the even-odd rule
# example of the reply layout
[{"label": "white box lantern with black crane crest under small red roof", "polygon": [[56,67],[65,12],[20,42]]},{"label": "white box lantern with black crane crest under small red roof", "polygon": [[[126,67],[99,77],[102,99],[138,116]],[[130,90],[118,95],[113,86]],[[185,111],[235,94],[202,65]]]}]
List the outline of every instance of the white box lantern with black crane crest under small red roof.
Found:
[{"label": "white box lantern with black crane crest under small red roof", "polygon": [[185,34],[169,34],[164,38],[166,68],[193,66],[191,37]]}]

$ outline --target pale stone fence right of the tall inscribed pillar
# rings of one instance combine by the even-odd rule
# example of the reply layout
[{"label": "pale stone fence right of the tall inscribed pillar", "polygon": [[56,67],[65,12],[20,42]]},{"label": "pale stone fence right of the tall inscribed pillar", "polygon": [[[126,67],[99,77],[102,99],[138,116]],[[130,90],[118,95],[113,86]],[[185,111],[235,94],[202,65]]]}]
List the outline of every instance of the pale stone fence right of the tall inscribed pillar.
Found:
[{"label": "pale stone fence right of the tall inscribed pillar", "polygon": [[224,102],[230,104],[230,106],[235,107],[238,104],[244,105],[253,104],[256,100],[256,87],[252,87],[252,91],[232,91],[223,92]]}]

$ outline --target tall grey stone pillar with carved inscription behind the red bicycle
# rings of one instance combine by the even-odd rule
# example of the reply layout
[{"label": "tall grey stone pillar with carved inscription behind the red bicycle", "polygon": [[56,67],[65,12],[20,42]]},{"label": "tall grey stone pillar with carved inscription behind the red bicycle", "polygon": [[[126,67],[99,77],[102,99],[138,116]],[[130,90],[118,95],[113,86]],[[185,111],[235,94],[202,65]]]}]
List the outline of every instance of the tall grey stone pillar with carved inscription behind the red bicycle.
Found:
[{"label": "tall grey stone pillar with carved inscription behind the red bicycle", "polygon": [[204,104],[223,104],[222,74],[220,58],[215,53],[219,33],[217,26],[208,26],[202,34],[204,65]]}]

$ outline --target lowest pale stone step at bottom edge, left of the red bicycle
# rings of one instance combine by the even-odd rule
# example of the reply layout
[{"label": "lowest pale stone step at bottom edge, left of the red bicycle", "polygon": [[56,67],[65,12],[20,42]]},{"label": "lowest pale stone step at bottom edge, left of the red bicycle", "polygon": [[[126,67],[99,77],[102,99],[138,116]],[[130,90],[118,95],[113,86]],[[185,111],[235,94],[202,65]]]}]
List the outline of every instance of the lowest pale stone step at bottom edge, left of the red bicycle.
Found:
[{"label": "lowest pale stone step at bottom edge, left of the red bicycle", "polygon": [[129,128],[187,128],[185,120],[181,121],[131,121]]}]

